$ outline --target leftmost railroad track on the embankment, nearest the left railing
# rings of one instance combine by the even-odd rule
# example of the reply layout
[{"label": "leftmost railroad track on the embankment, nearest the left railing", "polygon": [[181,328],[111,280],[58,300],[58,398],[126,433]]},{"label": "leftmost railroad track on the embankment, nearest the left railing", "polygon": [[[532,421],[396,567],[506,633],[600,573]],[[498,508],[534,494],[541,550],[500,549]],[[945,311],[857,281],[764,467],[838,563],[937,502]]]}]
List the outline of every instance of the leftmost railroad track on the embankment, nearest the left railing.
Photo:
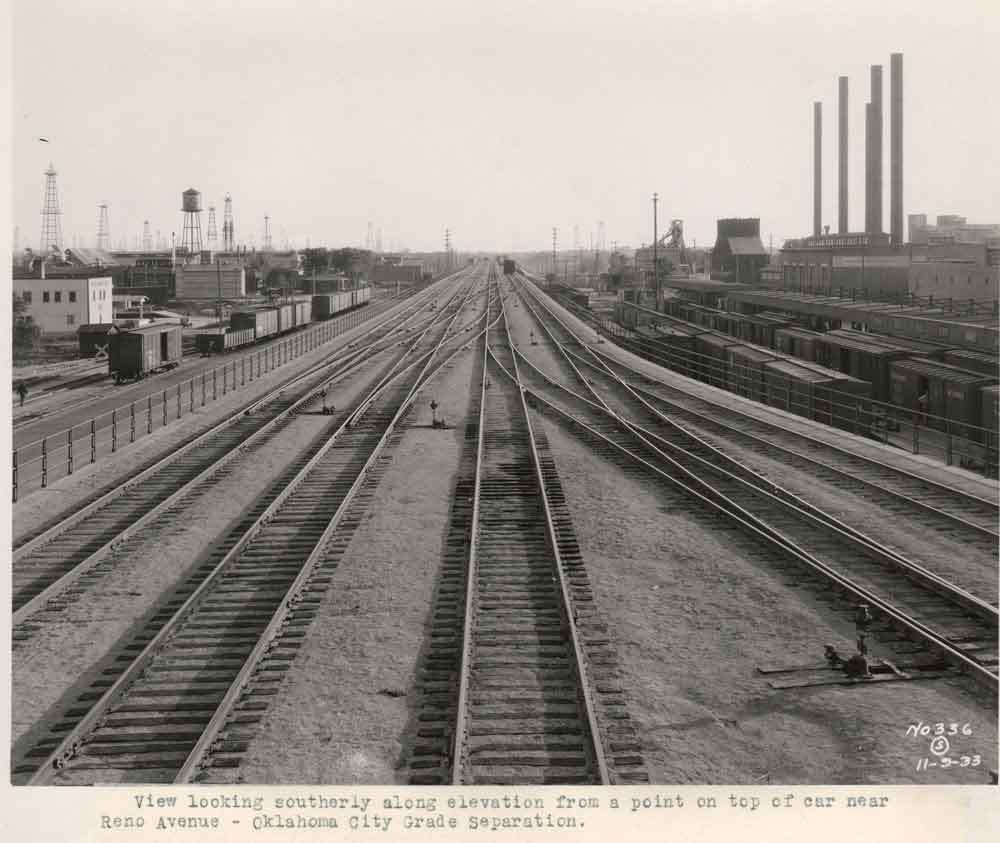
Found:
[{"label": "leftmost railroad track on the embankment, nearest the left railing", "polygon": [[[248,449],[261,446],[292,423],[295,414],[315,403],[320,390],[368,364],[371,357],[398,342],[414,310],[375,334],[371,343],[337,360],[311,367],[195,437],[166,458],[135,473],[110,492],[85,502],[67,517],[22,541],[14,552],[13,637],[24,641],[42,628],[32,623],[39,610],[58,610],[79,597],[109,564],[110,553],[133,535],[220,476]],[[391,368],[391,366],[390,366]]]}]

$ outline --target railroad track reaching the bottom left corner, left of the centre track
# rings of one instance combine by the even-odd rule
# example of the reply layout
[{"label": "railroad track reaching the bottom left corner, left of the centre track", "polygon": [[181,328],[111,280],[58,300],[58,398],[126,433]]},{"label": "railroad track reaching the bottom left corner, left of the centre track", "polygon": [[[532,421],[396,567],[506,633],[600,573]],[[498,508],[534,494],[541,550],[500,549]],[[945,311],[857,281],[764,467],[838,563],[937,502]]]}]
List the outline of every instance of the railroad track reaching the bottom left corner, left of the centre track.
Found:
[{"label": "railroad track reaching the bottom left corner, left of the centre track", "polygon": [[[468,302],[466,298],[461,304]],[[238,763],[419,390],[468,347],[441,312],[411,354],[285,472],[224,547],[15,762],[31,784],[190,781]],[[353,515],[352,515],[353,513]]]}]

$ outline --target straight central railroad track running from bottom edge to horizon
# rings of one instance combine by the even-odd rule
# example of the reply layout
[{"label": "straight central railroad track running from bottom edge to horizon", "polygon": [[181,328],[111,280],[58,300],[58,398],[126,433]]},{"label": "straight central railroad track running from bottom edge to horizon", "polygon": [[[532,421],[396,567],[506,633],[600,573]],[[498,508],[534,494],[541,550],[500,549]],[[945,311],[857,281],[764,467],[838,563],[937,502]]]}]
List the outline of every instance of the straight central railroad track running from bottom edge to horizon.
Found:
[{"label": "straight central railroad track running from bottom edge to horizon", "polygon": [[[440,782],[450,764],[454,784],[643,781],[554,463],[504,373],[514,361],[498,295],[491,306],[498,317],[482,349],[472,477],[457,487],[472,502],[453,510],[450,532],[451,556],[467,553],[464,577],[460,563],[446,569],[439,594],[443,628],[425,660],[420,714],[429,741],[415,749],[411,780]],[[457,701],[448,693],[455,668]],[[602,716],[618,721],[609,729]]]}]

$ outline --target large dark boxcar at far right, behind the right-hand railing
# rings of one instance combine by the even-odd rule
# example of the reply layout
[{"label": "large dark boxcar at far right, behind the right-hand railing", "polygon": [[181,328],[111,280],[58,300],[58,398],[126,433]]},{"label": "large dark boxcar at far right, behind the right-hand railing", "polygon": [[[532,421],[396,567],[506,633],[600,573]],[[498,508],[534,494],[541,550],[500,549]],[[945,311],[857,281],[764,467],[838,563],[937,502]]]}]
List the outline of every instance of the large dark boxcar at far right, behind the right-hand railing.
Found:
[{"label": "large dark boxcar at far right, behind the right-hand railing", "polygon": [[926,393],[928,427],[976,438],[968,425],[978,427],[982,421],[982,388],[997,383],[996,377],[924,358],[893,361],[890,372],[893,404],[918,410],[918,399]]}]

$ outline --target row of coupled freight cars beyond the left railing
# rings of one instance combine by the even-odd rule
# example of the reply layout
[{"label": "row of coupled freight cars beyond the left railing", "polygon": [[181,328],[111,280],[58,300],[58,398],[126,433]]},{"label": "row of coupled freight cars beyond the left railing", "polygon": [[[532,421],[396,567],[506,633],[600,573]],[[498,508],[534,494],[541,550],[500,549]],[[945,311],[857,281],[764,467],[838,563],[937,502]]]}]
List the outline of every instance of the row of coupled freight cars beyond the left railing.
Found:
[{"label": "row of coupled freight cars beyond the left railing", "polygon": [[202,356],[232,351],[311,322],[338,316],[367,304],[370,299],[371,288],[360,287],[340,293],[317,293],[289,304],[237,310],[230,316],[228,330],[198,334],[197,349]]}]

